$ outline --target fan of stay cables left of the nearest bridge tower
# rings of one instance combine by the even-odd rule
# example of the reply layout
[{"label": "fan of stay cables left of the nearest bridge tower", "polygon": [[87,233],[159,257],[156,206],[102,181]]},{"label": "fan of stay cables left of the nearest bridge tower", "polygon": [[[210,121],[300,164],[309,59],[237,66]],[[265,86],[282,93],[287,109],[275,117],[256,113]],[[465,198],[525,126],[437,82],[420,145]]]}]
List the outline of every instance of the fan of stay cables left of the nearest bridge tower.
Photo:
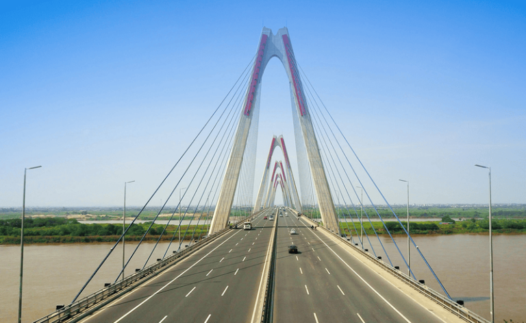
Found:
[{"label": "fan of stay cables left of the nearest bridge tower", "polygon": [[[205,239],[208,236],[208,227],[210,226],[210,220],[217,202],[219,190],[221,189],[227,158],[231,146],[234,143],[234,134],[240,116],[239,112],[242,111],[243,100],[245,99],[246,89],[248,88],[250,80],[250,67],[253,66],[254,58],[247,64],[247,67],[238,77],[238,80],[236,80],[227,95],[225,95],[221,103],[212,112],[212,115],[208,118],[205,125],[197,132],[197,135],[181,154],[175,165],[173,165],[155,191],[153,191],[151,197],[145,205],[142,206],[136,217],[127,225],[123,235],[121,235],[114,246],[112,246],[95,272],[92,273],[77,296],[75,296],[72,303],[77,300],[92,278],[99,272],[101,267],[103,267],[103,264],[118,246],[118,243],[121,242],[129,229],[138,221],[140,215],[147,208],[153,207],[150,204],[154,199],[158,200],[158,198],[164,197],[162,198],[164,204],[158,208],[153,221],[151,221],[145,230],[145,233],[125,262],[125,266],[121,272],[116,276],[116,280],[125,272],[125,268],[129,265],[139,248],[151,248],[151,252],[149,252],[149,256],[142,266],[144,268],[149,261],[151,261],[151,256],[155,248],[159,246],[160,241],[169,239],[168,246],[162,257],[164,259],[174,241],[177,243],[177,250],[173,252],[179,252],[183,248],[184,243],[188,243],[185,246],[189,246],[191,243]],[[259,102],[255,105],[253,113],[255,127],[252,127],[249,132],[249,141],[247,142],[244,155],[245,163],[243,163],[242,176],[240,176],[241,187],[237,190],[239,192],[238,202],[235,203],[231,212],[236,219],[249,215],[251,212]],[[180,198],[177,193],[181,194]],[[236,212],[234,212],[234,208]],[[161,223],[160,218],[166,219],[168,215],[168,221],[163,221],[166,222],[166,224],[162,226],[161,232],[155,230],[154,226]],[[168,235],[169,231],[171,235]],[[149,239],[156,237],[155,243],[145,246],[143,242],[147,237]],[[128,270],[127,272],[130,271]]]}]

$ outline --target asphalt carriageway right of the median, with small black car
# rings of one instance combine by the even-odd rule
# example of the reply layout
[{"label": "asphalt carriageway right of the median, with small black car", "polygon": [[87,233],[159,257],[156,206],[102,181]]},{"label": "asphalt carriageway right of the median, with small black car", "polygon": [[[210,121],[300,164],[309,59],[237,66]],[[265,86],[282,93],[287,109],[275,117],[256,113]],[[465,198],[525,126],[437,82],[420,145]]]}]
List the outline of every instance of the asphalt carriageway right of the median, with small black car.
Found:
[{"label": "asphalt carriageway right of the median, with small black car", "polygon": [[443,322],[295,216],[280,218],[277,241],[276,322]]}]

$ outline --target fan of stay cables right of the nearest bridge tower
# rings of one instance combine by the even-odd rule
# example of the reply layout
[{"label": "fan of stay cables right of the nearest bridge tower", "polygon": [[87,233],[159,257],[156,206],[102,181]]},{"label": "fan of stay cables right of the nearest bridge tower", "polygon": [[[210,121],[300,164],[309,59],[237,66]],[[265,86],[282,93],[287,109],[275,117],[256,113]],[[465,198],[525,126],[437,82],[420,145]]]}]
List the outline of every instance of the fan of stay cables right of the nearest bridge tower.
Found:
[{"label": "fan of stay cables right of the nearest bridge tower", "polygon": [[[290,52],[293,53],[292,49],[290,49]],[[438,285],[440,285],[444,293],[449,297],[449,294],[440,282],[440,279],[438,279],[438,276],[436,276],[434,270],[431,268],[431,265],[429,265],[421,250],[419,250],[416,246],[416,243],[414,243],[412,237],[406,229],[407,224],[403,224],[403,222],[401,222],[395,211],[384,197],[383,193],[381,193],[379,187],[377,187],[377,184],[368,173],[360,158],[358,158],[358,155],[355,153],[353,147],[351,147],[349,141],[347,141],[347,138],[330,114],[329,110],[325,104],[323,104],[323,101],[321,101],[321,98],[319,97],[318,93],[316,93],[314,87],[303,72],[303,69],[301,69],[293,54],[291,55],[291,58],[292,62],[294,63],[292,64],[292,73],[295,73],[295,78],[298,80],[299,86],[301,87],[301,93],[303,93],[305,96],[303,99],[307,102],[309,107],[307,110],[308,117],[310,117],[312,120],[314,132],[318,140],[318,146],[321,151],[323,165],[325,167],[325,174],[329,182],[329,189],[335,202],[336,212],[338,217],[340,217],[340,224],[342,224],[340,225],[340,229],[342,229],[342,232],[345,232],[345,235],[350,235],[349,240],[353,241],[353,243],[358,246],[362,246],[362,248],[364,245],[366,245],[364,241],[365,238],[367,240],[368,248],[371,248],[373,254],[378,257],[379,254],[385,256],[391,266],[393,266],[392,259],[403,261],[405,267],[408,268],[412,274],[412,277],[416,280],[416,276],[414,275],[412,268],[405,259],[405,256],[403,252],[401,252],[395,239],[392,237],[392,233],[390,232],[388,226],[386,226],[386,222],[379,212],[379,208],[387,208],[392,216],[395,217],[399,226],[403,229],[403,232],[405,232],[405,235],[408,237],[408,239],[410,239],[412,245],[417,250],[418,255],[421,257],[421,260],[425,263],[432,276],[434,276]],[[307,80],[307,84],[303,84],[301,80]],[[293,115],[295,115],[295,118],[298,118],[299,116],[297,115],[294,102],[292,109]],[[309,193],[304,195],[303,191],[305,188],[307,190],[309,187],[312,188],[312,182],[308,182],[308,180],[305,178],[305,175],[302,176],[301,174],[301,169],[305,169],[305,167],[304,165],[301,165],[301,160],[304,160],[304,155],[302,155],[304,153],[301,152],[301,145],[299,145],[299,138],[301,138],[301,134],[299,134],[299,132],[301,132],[301,129],[297,129],[298,125],[299,121],[295,119],[295,136],[299,158],[298,167],[300,170],[301,196],[302,202],[305,203],[305,201],[309,201],[311,196]],[[342,147],[342,144],[345,145],[345,147]],[[353,163],[351,163],[351,159],[353,160]],[[360,189],[363,190],[363,193],[365,193],[365,201],[360,198],[359,192],[356,190],[358,187],[360,187]],[[386,205],[386,207],[381,206],[380,203]],[[359,215],[359,213],[362,213],[363,215]],[[377,246],[381,247],[381,252],[379,252],[379,250],[375,250],[373,247],[373,241],[371,241],[364,228],[362,216],[365,216],[364,220],[366,220],[366,222],[372,228],[376,238],[374,240],[377,240]],[[390,241],[392,241],[393,246],[395,246],[397,251],[396,256],[388,254],[386,251],[384,243],[382,243],[378,232],[373,225],[373,221],[381,222],[382,228],[379,230],[386,232],[390,237]],[[349,222],[351,222],[351,226],[349,226]],[[360,234],[358,233],[358,229],[360,229]],[[362,238],[362,230],[365,234],[364,238]],[[358,242],[354,242],[355,239]]]}]

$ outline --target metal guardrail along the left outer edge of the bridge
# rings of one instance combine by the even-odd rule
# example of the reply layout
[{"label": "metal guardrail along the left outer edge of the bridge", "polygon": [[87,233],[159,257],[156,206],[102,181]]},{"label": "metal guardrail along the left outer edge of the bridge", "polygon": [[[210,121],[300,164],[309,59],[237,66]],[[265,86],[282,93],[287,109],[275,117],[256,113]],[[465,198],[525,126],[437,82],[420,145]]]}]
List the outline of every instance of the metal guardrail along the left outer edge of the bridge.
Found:
[{"label": "metal guardrail along the left outer edge of the bridge", "polygon": [[[231,226],[241,224],[247,219],[259,215],[260,212],[262,211],[254,213],[249,217],[246,217],[245,219],[242,219],[239,222],[232,224]],[[162,259],[157,263],[149,265],[143,270],[140,270],[130,276],[127,276],[123,280],[120,280],[112,285],[104,287],[103,289],[99,289],[98,291],[95,291],[95,293],[90,294],[80,300],[77,300],[76,302],[68,304],[65,307],[62,307],[62,309],[58,309],[57,311],[43,318],[40,318],[39,320],[34,321],[34,323],[58,323],[65,322],[66,320],[72,320],[71,322],[76,322],[77,320],[84,318],[85,315],[92,313],[92,311],[96,311],[97,309],[103,307],[105,304],[108,304],[108,302],[111,302],[112,300],[122,296],[123,294],[126,294],[128,291],[131,291],[132,289],[144,283],[145,281],[157,276],[163,270],[166,270],[168,268],[168,265],[173,265],[174,262],[181,261],[193,252],[199,250],[200,248],[203,248],[212,241],[225,235],[227,232],[229,232],[229,230],[231,230],[231,227],[225,228],[210,237],[201,239],[201,241],[193,244],[192,246],[189,246],[188,248],[181,250],[180,252],[177,252],[175,254],[171,254],[165,259]],[[95,306],[97,304],[98,306]]]}]

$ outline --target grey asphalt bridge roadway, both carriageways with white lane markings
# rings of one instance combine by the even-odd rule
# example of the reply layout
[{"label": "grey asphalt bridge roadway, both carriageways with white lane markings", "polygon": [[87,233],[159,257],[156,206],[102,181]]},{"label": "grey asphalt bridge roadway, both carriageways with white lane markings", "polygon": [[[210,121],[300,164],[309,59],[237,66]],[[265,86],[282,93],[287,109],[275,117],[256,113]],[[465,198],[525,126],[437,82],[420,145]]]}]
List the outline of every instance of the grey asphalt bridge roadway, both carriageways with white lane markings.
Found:
[{"label": "grey asphalt bridge roadway, both carriageways with white lane markings", "polygon": [[[253,230],[231,230],[82,322],[250,322],[275,224],[263,219],[270,212]],[[416,302],[423,296],[288,215],[275,217],[274,322],[464,322],[429,300]],[[289,254],[290,244],[300,253]]]}]

